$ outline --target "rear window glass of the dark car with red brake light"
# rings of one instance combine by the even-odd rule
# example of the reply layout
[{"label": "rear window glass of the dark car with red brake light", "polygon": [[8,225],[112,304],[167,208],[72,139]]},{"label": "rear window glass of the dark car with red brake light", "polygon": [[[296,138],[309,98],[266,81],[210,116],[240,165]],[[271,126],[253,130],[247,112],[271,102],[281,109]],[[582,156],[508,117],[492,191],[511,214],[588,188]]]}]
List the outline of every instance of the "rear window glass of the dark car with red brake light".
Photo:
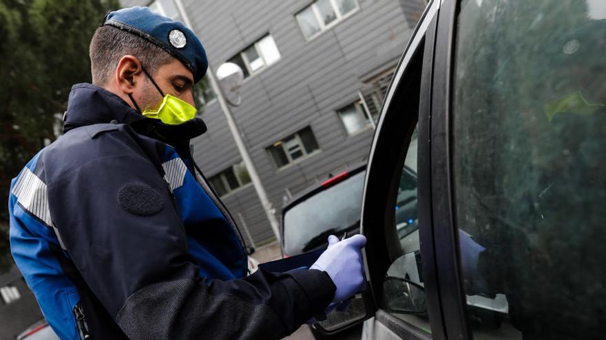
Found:
[{"label": "rear window glass of the dark car with red brake light", "polygon": [[324,245],[328,235],[340,238],[346,229],[359,228],[364,174],[366,170],[289,209],[284,215],[284,253],[304,253]]}]

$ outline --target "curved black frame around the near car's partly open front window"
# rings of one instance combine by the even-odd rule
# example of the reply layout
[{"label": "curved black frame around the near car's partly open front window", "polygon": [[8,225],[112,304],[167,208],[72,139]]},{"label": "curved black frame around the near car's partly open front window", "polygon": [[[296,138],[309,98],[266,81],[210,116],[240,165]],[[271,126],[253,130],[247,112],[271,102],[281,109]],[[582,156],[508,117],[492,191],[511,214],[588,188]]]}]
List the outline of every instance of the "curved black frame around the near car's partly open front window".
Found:
[{"label": "curved black frame around the near car's partly open front window", "polygon": [[[366,173],[366,182],[364,185],[364,203],[362,207],[362,234],[368,238],[368,243],[364,249],[364,258],[366,273],[370,282],[370,288],[373,292],[374,309],[369,313],[375,312],[377,321],[395,332],[404,339],[447,339],[446,320],[443,315],[444,299],[441,296],[439,286],[439,271],[436,247],[435,231],[432,220],[432,163],[430,162],[430,113],[432,113],[432,77],[434,75],[434,53],[436,34],[438,26],[438,14],[440,1],[432,1],[426,12],[421,16],[421,21],[412,34],[411,41],[402,56],[399,65],[395,71],[394,78],[388,88],[384,100],[382,114],[377,124],[377,133],[373,140],[373,146],[370,150],[370,161],[368,172]],[[421,28],[420,28],[421,27]],[[423,31],[425,30],[425,31]],[[424,42],[417,42],[417,35],[424,36]],[[423,45],[421,45],[423,44]],[[419,60],[412,60],[412,54],[421,53],[422,63]],[[415,64],[417,63],[417,64]],[[408,68],[408,69],[407,69]],[[390,258],[390,242],[386,237],[386,223],[390,215],[390,196],[389,191],[397,187],[400,179],[400,173],[408,152],[410,137],[417,126],[417,117],[406,122],[401,113],[402,106],[407,100],[406,89],[402,89],[406,82],[404,76],[410,76],[410,71],[419,73],[420,89],[418,105],[418,170],[417,170],[417,188],[419,201],[419,237],[423,247],[421,248],[421,257],[423,258],[424,286],[426,293],[426,303],[428,315],[430,317],[431,334],[422,331],[415,325],[406,321],[390,317],[389,313],[378,309],[378,298],[381,296],[381,283],[384,275],[392,263]],[[407,73],[408,72],[408,73]],[[418,86],[417,82],[417,86]],[[410,84],[409,84],[410,85]],[[404,104],[405,105],[405,104]],[[410,118],[410,117],[409,117]],[[405,133],[402,133],[405,131]],[[393,196],[393,193],[391,193]],[[395,200],[393,200],[395,201]],[[378,219],[378,220],[377,220]],[[376,227],[376,226],[379,227]],[[367,227],[365,227],[367,226]],[[374,226],[374,227],[373,227]],[[397,239],[397,237],[395,237]],[[393,245],[392,245],[393,248]],[[452,258],[452,254],[449,256]],[[450,301],[450,300],[449,300]],[[395,322],[397,320],[397,322]],[[450,333],[448,333],[450,334]]]}]

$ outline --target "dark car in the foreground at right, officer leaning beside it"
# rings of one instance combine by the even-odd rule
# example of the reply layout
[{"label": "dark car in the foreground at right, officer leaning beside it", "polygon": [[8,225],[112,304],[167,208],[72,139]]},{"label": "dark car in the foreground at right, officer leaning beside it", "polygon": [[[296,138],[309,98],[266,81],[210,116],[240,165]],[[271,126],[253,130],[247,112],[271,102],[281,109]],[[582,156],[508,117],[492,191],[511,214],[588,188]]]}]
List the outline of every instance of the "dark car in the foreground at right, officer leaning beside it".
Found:
[{"label": "dark car in the foreground at right, officer leaning beside it", "polygon": [[602,2],[428,3],[364,177],[362,339],[603,339]]}]

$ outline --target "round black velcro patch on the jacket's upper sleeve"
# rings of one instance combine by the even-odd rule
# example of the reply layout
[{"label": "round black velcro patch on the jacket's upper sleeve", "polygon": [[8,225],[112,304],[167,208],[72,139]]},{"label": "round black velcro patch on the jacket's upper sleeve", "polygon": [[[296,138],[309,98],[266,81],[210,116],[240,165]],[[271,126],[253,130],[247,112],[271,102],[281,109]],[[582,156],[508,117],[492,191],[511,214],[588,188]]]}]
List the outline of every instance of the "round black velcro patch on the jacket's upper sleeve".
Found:
[{"label": "round black velcro patch on the jacket's upper sleeve", "polygon": [[145,184],[127,184],[118,192],[118,201],[123,209],[137,216],[158,214],[164,207],[162,197]]}]

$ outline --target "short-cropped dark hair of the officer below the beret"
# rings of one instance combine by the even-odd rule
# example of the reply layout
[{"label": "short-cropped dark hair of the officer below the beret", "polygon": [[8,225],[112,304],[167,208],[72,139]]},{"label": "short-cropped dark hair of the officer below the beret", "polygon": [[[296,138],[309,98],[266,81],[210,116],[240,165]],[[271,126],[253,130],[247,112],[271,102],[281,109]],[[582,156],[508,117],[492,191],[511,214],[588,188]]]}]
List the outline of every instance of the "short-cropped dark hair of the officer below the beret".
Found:
[{"label": "short-cropped dark hair of the officer below the beret", "polygon": [[123,56],[136,56],[145,69],[154,73],[158,67],[171,60],[171,56],[161,47],[113,26],[99,27],[90,41],[90,71],[92,83],[103,86],[115,71]]}]

